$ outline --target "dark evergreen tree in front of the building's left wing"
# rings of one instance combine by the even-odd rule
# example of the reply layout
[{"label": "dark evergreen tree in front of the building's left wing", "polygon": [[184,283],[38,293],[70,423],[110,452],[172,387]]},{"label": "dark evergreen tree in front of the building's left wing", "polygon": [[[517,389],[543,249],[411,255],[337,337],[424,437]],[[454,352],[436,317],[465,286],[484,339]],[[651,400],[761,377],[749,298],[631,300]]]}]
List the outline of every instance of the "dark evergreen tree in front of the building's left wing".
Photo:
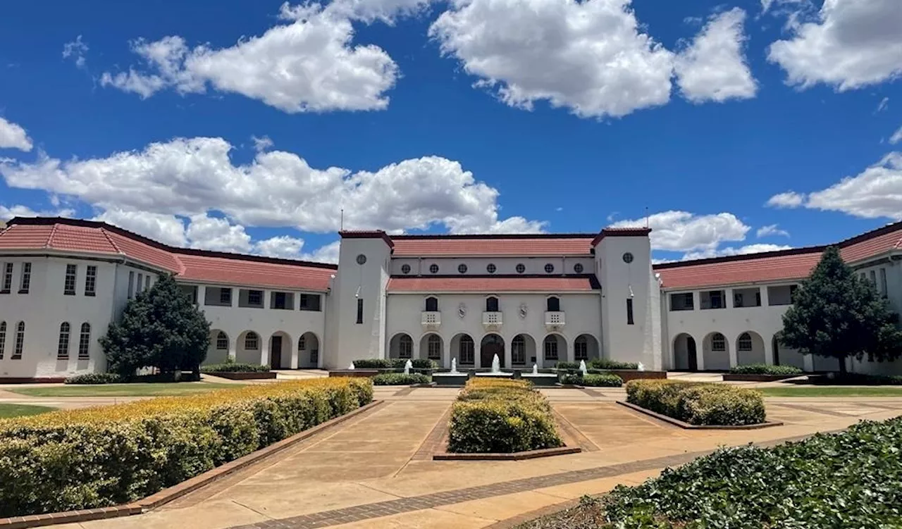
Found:
[{"label": "dark evergreen tree in front of the building's left wing", "polygon": [[100,339],[108,369],[125,377],[143,367],[199,373],[209,342],[210,324],[170,275],[129,301]]}]

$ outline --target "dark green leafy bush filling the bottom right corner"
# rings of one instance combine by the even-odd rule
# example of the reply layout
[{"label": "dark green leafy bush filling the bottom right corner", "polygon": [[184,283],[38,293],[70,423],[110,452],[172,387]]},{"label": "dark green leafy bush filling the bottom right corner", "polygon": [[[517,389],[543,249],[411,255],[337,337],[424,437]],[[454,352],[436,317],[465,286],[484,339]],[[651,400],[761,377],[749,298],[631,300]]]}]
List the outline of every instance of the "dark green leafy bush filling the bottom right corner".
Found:
[{"label": "dark green leafy bush filling the bottom right corner", "polygon": [[[902,526],[902,418],[772,448],[725,448],[603,499],[614,527]],[[552,525],[542,525],[552,526]],[[555,525],[557,526],[557,525]]]}]

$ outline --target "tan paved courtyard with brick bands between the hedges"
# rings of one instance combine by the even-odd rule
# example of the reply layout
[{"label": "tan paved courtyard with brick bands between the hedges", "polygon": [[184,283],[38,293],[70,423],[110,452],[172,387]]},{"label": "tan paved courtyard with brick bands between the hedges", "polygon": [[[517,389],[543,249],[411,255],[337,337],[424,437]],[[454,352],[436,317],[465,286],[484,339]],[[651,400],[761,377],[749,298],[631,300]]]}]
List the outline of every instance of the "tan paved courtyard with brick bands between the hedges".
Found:
[{"label": "tan paved courtyard with brick bands between the hedges", "polygon": [[65,529],[489,527],[617,484],[637,484],[720,445],[772,444],[902,415],[902,398],[769,398],[784,425],[686,431],[616,404],[620,388],[545,390],[568,444],[532,461],[432,461],[455,388],[376,388],[381,406],[144,515]]}]

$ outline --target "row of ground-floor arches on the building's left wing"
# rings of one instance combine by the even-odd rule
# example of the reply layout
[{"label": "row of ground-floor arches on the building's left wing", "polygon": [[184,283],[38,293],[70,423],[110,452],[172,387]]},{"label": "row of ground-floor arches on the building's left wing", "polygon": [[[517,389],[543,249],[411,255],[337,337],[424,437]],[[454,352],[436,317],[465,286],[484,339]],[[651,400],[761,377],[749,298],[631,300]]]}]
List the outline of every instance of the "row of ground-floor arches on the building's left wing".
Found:
[{"label": "row of ground-floor arches on the building's left wing", "polygon": [[294,342],[289,333],[277,331],[264,340],[260,333],[244,331],[233,341],[226,331],[211,330],[204,363],[222,363],[230,356],[236,362],[269,364],[272,369],[316,369],[320,364],[319,338],[308,331]]}]

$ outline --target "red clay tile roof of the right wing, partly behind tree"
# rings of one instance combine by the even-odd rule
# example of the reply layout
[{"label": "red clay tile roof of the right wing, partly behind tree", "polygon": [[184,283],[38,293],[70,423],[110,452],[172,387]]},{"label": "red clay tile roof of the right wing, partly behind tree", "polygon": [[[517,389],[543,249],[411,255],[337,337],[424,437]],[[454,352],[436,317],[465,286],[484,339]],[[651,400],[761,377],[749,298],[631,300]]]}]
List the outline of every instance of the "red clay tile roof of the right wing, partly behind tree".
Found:
[{"label": "red clay tile roof of the right wing, partly behind tree", "polygon": [[[852,237],[836,244],[842,259],[849,263],[870,259],[888,251],[902,249],[902,223],[893,223],[877,230]],[[807,278],[821,260],[826,246],[767,251],[662,263],[653,268],[661,276],[663,287],[697,288],[764,281],[798,280]]]}]

